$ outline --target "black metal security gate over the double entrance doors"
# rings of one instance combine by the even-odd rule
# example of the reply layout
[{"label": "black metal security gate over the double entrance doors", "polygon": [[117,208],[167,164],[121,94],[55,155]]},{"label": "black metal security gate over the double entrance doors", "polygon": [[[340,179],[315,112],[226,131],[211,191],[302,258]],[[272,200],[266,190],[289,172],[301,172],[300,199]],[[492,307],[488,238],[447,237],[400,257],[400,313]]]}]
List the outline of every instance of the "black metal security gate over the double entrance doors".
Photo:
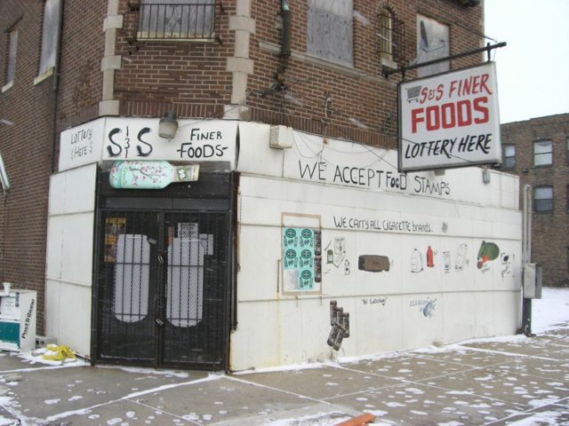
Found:
[{"label": "black metal security gate over the double entrance doors", "polygon": [[160,202],[103,202],[95,360],[145,367],[226,367],[230,217],[228,209],[196,209],[204,203],[193,203],[192,209],[109,209],[105,205],[148,207]]}]

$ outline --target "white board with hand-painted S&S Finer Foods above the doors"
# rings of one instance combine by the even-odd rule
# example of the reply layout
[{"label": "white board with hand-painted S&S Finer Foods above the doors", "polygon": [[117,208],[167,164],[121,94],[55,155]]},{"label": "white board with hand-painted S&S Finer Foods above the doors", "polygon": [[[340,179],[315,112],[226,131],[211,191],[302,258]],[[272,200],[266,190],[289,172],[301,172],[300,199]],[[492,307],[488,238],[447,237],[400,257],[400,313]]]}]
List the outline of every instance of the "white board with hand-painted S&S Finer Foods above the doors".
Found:
[{"label": "white board with hand-painted S&S Finer Foods above the doors", "polygon": [[108,118],[103,160],[230,162],[235,166],[237,122],[179,120],[172,140],[158,135],[158,119]]}]

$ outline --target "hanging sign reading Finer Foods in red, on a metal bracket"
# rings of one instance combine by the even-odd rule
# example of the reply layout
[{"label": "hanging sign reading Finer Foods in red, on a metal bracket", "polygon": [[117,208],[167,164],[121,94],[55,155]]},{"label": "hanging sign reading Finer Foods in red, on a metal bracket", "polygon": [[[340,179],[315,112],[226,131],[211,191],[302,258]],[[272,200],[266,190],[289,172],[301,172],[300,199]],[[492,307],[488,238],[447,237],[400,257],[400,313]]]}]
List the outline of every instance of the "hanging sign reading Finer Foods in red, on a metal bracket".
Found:
[{"label": "hanging sign reading Finer Foods in red, on a metal bracket", "polygon": [[501,162],[493,62],[400,83],[399,170]]}]

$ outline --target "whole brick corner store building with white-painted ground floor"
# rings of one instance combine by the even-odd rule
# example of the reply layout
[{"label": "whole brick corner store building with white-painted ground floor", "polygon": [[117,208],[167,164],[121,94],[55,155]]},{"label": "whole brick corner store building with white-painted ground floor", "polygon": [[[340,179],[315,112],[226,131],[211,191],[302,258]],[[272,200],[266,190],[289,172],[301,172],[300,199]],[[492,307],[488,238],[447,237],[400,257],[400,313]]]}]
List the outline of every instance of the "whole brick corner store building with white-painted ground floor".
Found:
[{"label": "whole brick corner store building with white-painted ground floor", "polygon": [[483,46],[478,3],[4,0],[2,280],[93,362],[244,369],[513,333],[517,177],[399,173],[401,75],[382,75]]}]

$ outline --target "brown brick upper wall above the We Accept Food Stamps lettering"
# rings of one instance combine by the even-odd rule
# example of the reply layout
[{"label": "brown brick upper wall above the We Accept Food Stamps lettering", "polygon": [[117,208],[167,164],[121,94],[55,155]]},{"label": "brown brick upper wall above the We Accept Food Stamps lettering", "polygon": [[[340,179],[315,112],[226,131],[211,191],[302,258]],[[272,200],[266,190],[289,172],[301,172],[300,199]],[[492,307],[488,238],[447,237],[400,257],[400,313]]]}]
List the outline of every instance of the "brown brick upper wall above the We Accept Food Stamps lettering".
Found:
[{"label": "brown brick upper wall above the We Accept Food Stamps lettering", "polygon": [[[279,2],[253,2],[252,17],[257,22],[257,34],[252,36],[251,56],[255,64],[255,73],[250,76],[252,91],[266,91],[274,82],[274,75],[279,67],[276,53],[260,49],[260,42],[281,43],[280,30],[276,27]],[[369,1],[354,0],[354,10],[370,21],[369,25],[353,20],[354,32],[354,71],[359,76],[342,74],[333,67],[313,65],[293,56],[288,61],[284,73],[284,83],[294,98],[300,99],[304,105],[282,99],[280,93],[269,93],[265,96],[252,96],[249,105],[262,111],[290,114],[294,127],[304,122],[323,120],[333,125],[354,128],[349,118],[357,118],[377,133],[387,134],[392,140],[383,141],[395,147],[397,134],[397,83],[400,75],[392,75],[389,79],[381,76],[380,54],[378,52],[378,19],[381,9],[389,5],[397,20],[405,26],[405,51],[411,61],[416,56],[417,13],[421,13],[450,27],[451,54],[470,51],[481,46],[482,38],[477,36],[483,31],[482,7],[465,8],[451,0],[409,0],[409,1]],[[307,0],[291,0],[292,11],[292,43],[293,51],[306,53],[306,25],[308,14]],[[460,25],[458,25],[460,24]],[[467,30],[465,28],[471,28]],[[472,66],[480,62],[482,55],[454,60],[451,67]],[[407,73],[412,79],[416,72]],[[369,77],[379,77],[373,81]],[[325,99],[329,95],[330,108],[334,113],[326,115]],[[390,118],[388,118],[390,117]],[[385,126],[385,124],[388,124]],[[309,129],[306,129],[309,130]],[[349,132],[349,130],[346,130]],[[336,135],[340,136],[340,135]],[[380,139],[381,140],[381,139]]]}]

